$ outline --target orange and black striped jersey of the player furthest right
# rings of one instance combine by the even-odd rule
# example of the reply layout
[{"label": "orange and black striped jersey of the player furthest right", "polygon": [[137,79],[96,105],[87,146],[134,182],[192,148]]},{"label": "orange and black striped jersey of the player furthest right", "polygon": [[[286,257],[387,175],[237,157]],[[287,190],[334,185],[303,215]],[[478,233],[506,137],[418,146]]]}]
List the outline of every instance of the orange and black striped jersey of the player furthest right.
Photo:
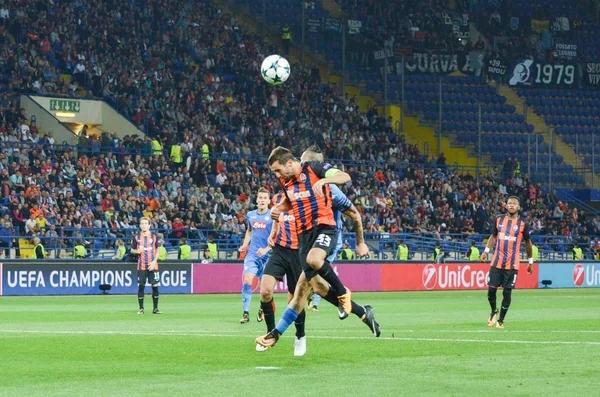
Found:
[{"label": "orange and black striped jersey of the player furthest right", "polygon": [[510,219],[507,215],[501,215],[492,226],[492,235],[497,238],[492,266],[519,270],[521,242],[531,239],[527,223],[521,217]]}]

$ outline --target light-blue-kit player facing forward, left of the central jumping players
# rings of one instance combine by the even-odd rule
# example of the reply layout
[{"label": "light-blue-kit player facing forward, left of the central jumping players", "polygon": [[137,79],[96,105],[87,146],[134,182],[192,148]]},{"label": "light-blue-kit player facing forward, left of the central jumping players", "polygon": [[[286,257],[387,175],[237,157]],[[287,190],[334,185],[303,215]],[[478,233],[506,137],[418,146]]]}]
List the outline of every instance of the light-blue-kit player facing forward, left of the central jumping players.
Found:
[{"label": "light-blue-kit player facing forward, left of the central jumping players", "polygon": [[[252,301],[252,282],[254,277],[262,277],[262,272],[271,254],[268,239],[273,227],[271,211],[269,211],[270,195],[267,189],[260,188],[256,195],[258,209],[248,212],[246,218],[248,228],[244,242],[239,248],[240,252],[246,252],[244,258],[244,273],[242,284],[242,306],[244,314],[240,320],[241,324],[250,321],[250,302]],[[258,311],[258,321],[262,321],[262,310]]]}]

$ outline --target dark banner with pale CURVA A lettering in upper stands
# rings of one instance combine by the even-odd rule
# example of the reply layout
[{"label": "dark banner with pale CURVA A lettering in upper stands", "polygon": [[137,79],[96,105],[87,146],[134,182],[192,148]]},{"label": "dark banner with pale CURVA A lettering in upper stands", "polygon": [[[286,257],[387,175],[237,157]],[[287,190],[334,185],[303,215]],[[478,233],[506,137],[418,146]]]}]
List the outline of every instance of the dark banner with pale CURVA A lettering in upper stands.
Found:
[{"label": "dark banner with pale CURVA A lettering in upper stands", "polygon": [[[471,63],[470,54],[423,54],[415,53],[412,59],[406,59],[407,73],[420,74],[450,74],[461,72],[473,74],[474,65]],[[484,63],[483,58],[481,63]]]}]

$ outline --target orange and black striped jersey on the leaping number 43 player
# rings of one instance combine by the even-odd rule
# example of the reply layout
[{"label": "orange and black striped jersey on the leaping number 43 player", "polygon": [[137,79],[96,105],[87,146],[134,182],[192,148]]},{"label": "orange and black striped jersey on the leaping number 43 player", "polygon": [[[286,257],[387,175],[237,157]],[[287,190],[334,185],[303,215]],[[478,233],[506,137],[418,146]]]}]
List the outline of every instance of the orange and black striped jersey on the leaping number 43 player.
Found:
[{"label": "orange and black striped jersey on the leaping number 43 player", "polygon": [[333,169],[331,164],[320,161],[302,163],[300,174],[288,181],[280,179],[283,191],[292,203],[292,213],[296,218],[298,234],[312,229],[316,225],[336,226],[332,196],[329,185],[323,186],[323,196],[317,197],[313,184],[325,178],[325,173]]}]

